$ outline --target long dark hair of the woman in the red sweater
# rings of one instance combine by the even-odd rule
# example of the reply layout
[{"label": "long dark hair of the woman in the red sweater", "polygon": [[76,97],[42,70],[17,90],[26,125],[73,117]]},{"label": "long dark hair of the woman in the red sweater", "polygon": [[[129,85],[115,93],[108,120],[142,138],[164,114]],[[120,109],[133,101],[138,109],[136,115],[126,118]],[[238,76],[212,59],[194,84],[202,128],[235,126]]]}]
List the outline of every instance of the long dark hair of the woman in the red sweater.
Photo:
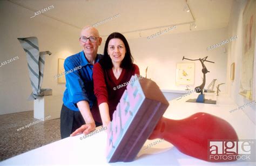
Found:
[{"label": "long dark hair of the woman in the red sweater", "polygon": [[131,54],[131,51],[130,51],[129,44],[128,44],[126,38],[123,36],[123,34],[118,33],[118,32],[113,32],[113,33],[110,34],[109,37],[107,37],[106,44],[105,44],[105,47],[104,47],[104,57],[102,58],[102,60],[99,61],[99,64],[106,70],[111,69],[113,67],[111,58],[107,54],[107,47],[109,46],[109,41],[111,39],[114,39],[114,38],[122,40],[124,42],[124,46],[125,46],[125,50],[126,50],[124,59],[122,60],[122,63],[120,65],[120,67],[122,67],[122,68],[132,67],[133,57],[132,57],[132,54]]}]

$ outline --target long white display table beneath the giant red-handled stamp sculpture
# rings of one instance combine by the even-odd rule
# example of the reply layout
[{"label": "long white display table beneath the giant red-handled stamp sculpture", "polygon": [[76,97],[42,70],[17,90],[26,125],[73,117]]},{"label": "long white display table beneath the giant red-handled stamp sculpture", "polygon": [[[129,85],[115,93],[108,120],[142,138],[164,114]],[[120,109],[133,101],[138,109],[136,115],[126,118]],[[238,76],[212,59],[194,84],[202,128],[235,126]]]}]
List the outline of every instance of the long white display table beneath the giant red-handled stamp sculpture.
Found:
[{"label": "long white display table beneath the giant red-handled stamp sculpture", "polygon": [[[193,93],[180,100],[169,101],[170,105],[165,111],[164,117],[180,120],[198,112],[205,112],[229,122],[237,132],[239,139],[256,139],[256,126],[248,119],[247,115],[242,110],[230,113],[230,110],[238,107],[230,97],[220,94],[216,98],[216,105],[186,102],[186,100],[197,96],[198,94]],[[211,98],[212,96],[206,94],[205,97]],[[85,139],[83,136],[83,134],[79,134],[67,137],[11,157],[2,161],[0,165],[255,165],[255,163],[239,161],[225,163],[206,162],[181,153],[167,141],[147,148],[150,143],[155,142],[157,139],[147,140],[132,162],[107,163],[107,133],[100,132]],[[187,146],[189,147],[189,144]],[[195,153],[197,152],[195,151]],[[70,158],[75,159],[71,160]]]}]

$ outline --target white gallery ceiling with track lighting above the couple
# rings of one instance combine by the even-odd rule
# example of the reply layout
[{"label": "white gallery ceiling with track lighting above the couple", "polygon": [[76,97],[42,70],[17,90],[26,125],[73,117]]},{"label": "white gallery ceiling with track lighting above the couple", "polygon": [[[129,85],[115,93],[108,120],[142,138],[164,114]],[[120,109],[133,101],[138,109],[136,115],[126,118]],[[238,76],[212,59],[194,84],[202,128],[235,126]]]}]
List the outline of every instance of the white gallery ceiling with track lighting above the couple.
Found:
[{"label": "white gallery ceiling with track lighting above the couple", "polygon": [[[42,10],[50,5],[54,9],[44,12],[44,17],[80,30],[106,18],[120,14],[97,26],[101,36],[116,31],[127,38],[147,37],[177,25],[169,33],[191,30],[209,30],[226,27],[230,18],[233,0],[9,0],[10,3],[26,8],[31,12]],[[187,12],[186,5],[190,7]],[[194,19],[193,19],[194,17]],[[191,26],[194,22],[197,27]]]}]

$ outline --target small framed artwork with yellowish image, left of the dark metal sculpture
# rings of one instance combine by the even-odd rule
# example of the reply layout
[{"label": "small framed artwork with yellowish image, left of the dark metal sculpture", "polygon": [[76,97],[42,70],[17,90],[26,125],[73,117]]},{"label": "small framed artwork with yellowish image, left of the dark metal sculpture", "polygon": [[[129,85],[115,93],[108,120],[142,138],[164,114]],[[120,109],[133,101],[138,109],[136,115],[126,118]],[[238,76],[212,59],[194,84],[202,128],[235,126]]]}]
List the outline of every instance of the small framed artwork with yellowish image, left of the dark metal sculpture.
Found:
[{"label": "small framed artwork with yellowish image, left of the dark metal sculpture", "polygon": [[177,63],[176,85],[194,85],[194,63]]}]

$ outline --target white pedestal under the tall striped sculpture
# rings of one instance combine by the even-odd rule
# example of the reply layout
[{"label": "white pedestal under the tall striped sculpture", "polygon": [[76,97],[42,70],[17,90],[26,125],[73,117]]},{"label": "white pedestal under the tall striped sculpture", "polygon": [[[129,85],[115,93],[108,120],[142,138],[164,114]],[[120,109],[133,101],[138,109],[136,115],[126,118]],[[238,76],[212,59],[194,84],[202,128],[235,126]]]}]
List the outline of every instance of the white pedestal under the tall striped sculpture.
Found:
[{"label": "white pedestal under the tall striped sculpture", "polygon": [[42,121],[59,118],[63,103],[62,98],[63,95],[49,95],[34,100],[34,118]]}]

